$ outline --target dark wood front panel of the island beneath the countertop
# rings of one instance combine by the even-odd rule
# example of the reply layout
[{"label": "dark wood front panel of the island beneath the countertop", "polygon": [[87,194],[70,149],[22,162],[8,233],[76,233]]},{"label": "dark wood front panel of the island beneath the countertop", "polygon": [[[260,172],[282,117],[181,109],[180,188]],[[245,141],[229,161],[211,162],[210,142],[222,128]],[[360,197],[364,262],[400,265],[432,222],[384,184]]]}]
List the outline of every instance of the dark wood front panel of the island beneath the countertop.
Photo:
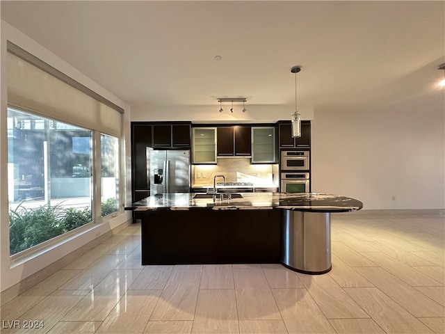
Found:
[{"label": "dark wood front panel of the island beneath the countertop", "polygon": [[280,263],[280,209],[139,212],[142,264]]}]

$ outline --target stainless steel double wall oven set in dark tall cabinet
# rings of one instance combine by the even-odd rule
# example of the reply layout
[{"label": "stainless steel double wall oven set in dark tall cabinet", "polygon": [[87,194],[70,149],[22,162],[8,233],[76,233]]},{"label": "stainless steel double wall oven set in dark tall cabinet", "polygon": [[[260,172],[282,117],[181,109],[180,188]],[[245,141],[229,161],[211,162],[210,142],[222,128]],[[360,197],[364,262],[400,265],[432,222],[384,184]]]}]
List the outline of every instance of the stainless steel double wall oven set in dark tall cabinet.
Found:
[{"label": "stainless steel double wall oven set in dark tall cabinet", "polygon": [[280,161],[282,193],[309,193],[309,151],[283,150]]}]

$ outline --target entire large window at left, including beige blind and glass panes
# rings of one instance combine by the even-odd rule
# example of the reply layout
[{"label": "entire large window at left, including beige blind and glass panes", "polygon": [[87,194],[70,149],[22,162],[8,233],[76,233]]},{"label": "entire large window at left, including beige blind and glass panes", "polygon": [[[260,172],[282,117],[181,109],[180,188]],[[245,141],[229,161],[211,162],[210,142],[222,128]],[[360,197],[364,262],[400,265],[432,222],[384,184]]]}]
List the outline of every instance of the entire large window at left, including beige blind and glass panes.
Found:
[{"label": "entire large window at left, including beige blind and glass panes", "polygon": [[118,212],[124,109],[10,41],[7,49],[13,255]]}]

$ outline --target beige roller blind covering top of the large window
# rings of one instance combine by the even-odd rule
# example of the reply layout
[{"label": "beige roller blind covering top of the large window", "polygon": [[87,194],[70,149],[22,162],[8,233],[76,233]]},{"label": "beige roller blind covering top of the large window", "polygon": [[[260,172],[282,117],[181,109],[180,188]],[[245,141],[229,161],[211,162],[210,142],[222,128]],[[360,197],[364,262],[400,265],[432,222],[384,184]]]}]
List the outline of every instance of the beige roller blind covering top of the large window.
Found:
[{"label": "beige roller blind covering top of the large window", "polygon": [[8,104],[121,136],[122,112],[86,86],[8,42]]}]

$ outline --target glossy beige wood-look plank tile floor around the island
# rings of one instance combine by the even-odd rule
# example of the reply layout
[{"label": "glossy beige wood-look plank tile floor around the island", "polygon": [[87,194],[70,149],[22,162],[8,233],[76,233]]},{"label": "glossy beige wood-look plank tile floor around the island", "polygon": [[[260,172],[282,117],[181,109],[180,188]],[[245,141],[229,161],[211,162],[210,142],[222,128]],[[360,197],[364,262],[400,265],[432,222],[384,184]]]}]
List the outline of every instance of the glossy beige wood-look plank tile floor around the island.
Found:
[{"label": "glossy beige wood-look plank tile floor around the island", "polygon": [[142,266],[133,224],[3,305],[2,332],[445,333],[444,225],[444,212],[333,214],[332,271],[308,276]]}]

